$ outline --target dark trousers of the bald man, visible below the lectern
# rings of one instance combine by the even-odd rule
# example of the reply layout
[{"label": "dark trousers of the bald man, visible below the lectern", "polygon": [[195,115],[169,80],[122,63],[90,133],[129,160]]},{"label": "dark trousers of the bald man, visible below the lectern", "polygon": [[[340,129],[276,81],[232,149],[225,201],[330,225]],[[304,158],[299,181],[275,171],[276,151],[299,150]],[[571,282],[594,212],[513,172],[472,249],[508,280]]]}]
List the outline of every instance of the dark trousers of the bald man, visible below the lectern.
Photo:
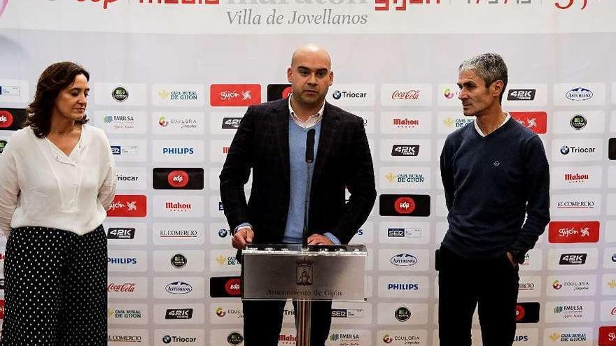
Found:
[{"label": "dark trousers of the bald man, visible below the lectern", "polygon": [[[277,346],[286,301],[242,301],[244,346]],[[295,301],[293,308],[297,311]],[[297,315],[297,314],[296,314]],[[332,302],[312,302],[310,346],[324,346],[332,324]]]}]

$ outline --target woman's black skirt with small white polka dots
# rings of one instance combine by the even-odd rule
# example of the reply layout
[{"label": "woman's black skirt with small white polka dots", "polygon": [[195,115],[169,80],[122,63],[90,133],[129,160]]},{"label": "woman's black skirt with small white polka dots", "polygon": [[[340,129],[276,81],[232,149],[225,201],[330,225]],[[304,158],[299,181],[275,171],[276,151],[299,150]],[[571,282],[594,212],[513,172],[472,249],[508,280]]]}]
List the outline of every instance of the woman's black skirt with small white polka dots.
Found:
[{"label": "woman's black skirt with small white polka dots", "polygon": [[1,346],[106,345],[107,239],[45,227],[10,232]]}]

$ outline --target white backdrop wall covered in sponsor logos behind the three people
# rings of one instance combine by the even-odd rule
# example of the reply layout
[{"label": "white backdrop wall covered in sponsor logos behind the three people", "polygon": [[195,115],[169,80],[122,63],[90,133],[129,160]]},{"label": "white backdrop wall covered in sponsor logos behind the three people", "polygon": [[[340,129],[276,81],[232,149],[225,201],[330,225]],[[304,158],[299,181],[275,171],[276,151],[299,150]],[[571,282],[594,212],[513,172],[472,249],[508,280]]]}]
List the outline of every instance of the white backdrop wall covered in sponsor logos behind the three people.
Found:
[{"label": "white backdrop wall covered in sponsor logos behind the three people", "polygon": [[[328,101],[363,117],[379,190],[353,238],[370,253],[367,302],[334,304],[328,345],[437,345],[438,158],[470,121],[457,66],[499,52],[504,108],[542,138],[551,164],[553,221],[521,266],[515,345],[616,345],[615,10],[605,0],[0,0],[0,150],[45,66],[83,64],[88,115],[118,165],[104,224],[109,345],[242,345],[218,174],[246,107],[288,95],[291,52],[319,43],[334,62]],[[294,343],[288,304],[279,344]]]}]

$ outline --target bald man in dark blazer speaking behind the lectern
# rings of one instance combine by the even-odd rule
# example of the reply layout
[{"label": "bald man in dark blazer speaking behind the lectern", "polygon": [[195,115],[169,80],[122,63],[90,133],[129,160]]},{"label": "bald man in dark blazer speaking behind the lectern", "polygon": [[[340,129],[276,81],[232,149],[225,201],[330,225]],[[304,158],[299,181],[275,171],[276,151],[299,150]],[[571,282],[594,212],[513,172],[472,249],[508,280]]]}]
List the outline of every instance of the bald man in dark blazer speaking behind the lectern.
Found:
[{"label": "bald man in dark blazer speaking behind the lectern", "polygon": [[[374,206],[374,169],[363,120],[325,102],[333,73],[328,52],[298,48],[287,71],[292,94],[251,106],[221,173],[221,198],[233,247],[302,243],[304,196],[311,178],[309,245],[346,244]],[[314,170],[304,161],[307,131],[316,130]],[[253,174],[250,199],[244,185]],[[345,203],[345,188],[351,197]],[[344,273],[332,273],[344,275]],[[277,345],[285,301],[244,301],[246,346]],[[324,345],[331,302],[312,304],[311,345]]]}]

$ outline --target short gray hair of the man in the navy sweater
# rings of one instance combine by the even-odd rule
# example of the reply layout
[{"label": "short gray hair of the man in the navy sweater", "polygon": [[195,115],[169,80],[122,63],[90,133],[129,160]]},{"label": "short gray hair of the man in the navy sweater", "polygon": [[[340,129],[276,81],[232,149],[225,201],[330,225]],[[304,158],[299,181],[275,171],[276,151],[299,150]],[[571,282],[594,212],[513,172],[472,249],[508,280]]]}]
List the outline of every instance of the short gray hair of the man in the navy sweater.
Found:
[{"label": "short gray hair of the man in the navy sweater", "polygon": [[507,65],[503,57],[496,53],[484,53],[464,60],[458,72],[475,71],[479,78],[482,78],[486,83],[486,87],[492,85],[496,80],[503,81],[503,91],[500,92],[500,101],[503,101],[503,94],[507,88]]}]

